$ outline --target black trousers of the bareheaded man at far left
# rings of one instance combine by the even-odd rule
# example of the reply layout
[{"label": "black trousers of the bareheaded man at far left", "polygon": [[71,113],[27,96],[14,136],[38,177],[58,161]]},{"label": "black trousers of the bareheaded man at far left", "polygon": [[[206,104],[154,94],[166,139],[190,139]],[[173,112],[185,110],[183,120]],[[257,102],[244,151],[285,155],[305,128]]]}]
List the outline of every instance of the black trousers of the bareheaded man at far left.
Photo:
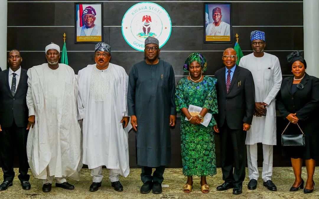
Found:
[{"label": "black trousers of the bareheaded man at far left", "polygon": [[26,127],[17,127],[15,122],[9,128],[2,128],[0,132],[0,153],[1,164],[3,171],[3,178],[9,182],[13,181],[13,157],[14,150],[17,149],[19,156],[19,180],[28,181],[30,175],[28,175],[28,158],[26,155],[26,140],[28,137],[28,130]]}]

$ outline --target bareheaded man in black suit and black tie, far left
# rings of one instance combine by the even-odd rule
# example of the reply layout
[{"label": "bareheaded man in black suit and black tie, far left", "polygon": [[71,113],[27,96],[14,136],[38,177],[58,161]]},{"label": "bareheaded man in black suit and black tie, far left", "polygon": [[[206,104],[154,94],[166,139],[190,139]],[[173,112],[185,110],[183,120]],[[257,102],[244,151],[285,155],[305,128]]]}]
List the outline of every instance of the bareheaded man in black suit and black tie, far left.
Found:
[{"label": "bareheaded man in black suit and black tie, far left", "polygon": [[26,92],[28,89],[26,70],[20,63],[22,57],[19,50],[11,50],[8,56],[9,69],[0,72],[0,153],[4,181],[0,191],[12,186],[14,178],[14,149],[19,155],[19,175],[23,189],[30,189],[30,176],[26,155],[28,136],[28,107]]}]

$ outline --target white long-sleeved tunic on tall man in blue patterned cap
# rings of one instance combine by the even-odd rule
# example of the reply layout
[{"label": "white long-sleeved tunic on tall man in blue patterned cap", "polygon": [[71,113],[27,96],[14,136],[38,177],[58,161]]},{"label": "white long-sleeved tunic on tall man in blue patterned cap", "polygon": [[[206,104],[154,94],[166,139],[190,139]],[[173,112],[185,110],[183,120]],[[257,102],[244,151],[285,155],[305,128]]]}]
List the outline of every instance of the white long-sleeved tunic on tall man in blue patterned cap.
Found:
[{"label": "white long-sleeved tunic on tall man in blue patterned cap", "polygon": [[255,102],[268,104],[266,116],[253,117],[250,130],[247,131],[246,144],[261,142],[276,145],[275,97],[282,81],[278,57],[265,52],[263,57],[255,57],[254,53],[251,53],[242,57],[239,65],[247,68],[253,74]]}]

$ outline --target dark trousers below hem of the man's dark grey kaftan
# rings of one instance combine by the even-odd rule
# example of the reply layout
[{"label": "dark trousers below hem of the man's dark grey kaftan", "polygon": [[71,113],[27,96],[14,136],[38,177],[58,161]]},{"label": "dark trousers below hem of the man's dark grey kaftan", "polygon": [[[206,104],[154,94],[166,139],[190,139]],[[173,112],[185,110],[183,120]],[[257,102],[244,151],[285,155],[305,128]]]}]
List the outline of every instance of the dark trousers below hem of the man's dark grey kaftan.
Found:
[{"label": "dark trousers below hem of the man's dark grey kaftan", "polygon": [[163,173],[165,171],[165,166],[155,167],[153,176],[152,176],[152,167],[141,166],[141,168],[142,168],[141,180],[143,183],[147,181],[151,181],[151,182],[159,182],[160,184],[162,184],[164,180]]}]

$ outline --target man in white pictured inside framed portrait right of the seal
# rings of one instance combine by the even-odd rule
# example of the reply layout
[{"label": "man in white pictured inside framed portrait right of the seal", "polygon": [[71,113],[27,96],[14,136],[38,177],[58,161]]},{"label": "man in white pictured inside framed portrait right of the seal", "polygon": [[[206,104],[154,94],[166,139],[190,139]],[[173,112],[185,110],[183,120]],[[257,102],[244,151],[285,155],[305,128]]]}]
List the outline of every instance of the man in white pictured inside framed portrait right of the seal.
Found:
[{"label": "man in white pictured inside framed portrait right of the seal", "polygon": [[214,22],[209,23],[206,27],[206,35],[230,35],[230,25],[221,21],[221,9],[216,7],[212,11]]}]

